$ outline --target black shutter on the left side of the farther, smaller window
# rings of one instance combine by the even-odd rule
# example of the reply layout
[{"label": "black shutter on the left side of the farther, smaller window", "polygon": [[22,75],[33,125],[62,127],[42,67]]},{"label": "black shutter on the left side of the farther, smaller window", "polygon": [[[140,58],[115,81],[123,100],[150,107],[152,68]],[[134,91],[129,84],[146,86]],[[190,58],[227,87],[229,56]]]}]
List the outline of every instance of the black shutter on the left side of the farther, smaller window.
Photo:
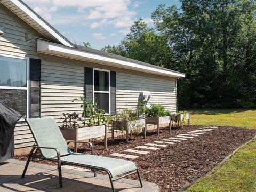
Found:
[{"label": "black shutter on the left side of the farther, smaller window", "polygon": [[93,101],[93,69],[91,67],[84,68],[84,81],[85,81],[85,99],[87,102]]}]

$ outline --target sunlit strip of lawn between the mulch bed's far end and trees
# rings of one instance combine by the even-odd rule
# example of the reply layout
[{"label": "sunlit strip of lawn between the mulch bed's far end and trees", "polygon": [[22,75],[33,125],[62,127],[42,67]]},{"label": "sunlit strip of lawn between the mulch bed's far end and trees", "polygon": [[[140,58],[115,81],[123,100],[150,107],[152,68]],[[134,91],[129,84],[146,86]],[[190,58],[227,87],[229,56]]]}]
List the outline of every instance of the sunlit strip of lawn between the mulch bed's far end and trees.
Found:
[{"label": "sunlit strip of lawn between the mulch bed's far end and trees", "polygon": [[191,125],[236,126],[256,129],[256,110],[192,110]]}]

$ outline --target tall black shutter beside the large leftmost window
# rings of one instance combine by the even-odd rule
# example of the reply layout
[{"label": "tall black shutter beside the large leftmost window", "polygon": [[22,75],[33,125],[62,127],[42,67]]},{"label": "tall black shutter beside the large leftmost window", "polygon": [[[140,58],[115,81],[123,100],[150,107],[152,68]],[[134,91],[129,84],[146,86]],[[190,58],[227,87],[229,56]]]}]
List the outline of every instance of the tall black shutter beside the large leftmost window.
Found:
[{"label": "tall black shutter beside the large leftmost window", "polygon": [[29,60],[29,118],[41,117],[41,60]]}]

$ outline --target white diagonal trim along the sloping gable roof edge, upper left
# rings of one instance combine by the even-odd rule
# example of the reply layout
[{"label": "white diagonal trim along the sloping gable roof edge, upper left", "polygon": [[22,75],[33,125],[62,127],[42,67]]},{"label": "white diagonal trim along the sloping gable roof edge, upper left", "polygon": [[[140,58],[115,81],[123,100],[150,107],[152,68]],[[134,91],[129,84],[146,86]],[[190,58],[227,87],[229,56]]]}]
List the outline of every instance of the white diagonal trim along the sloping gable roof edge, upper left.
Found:
[{"label": "white diagonal trim along the sloping gable roof edge, upper left", "polygon": [[66,37],[59,33],[54,27],[50,25],[49,22],[45,21],[40,15],[38,15],[33,9],[31,9],[26,3],[21,0],[9,0],[16,6],[18,6],[22,11],[24,11],[31,19],[36,21],[41,25],[46,31],[48,31],[52,36],[58,39],[63,45],[68,47],[74,47]]}]

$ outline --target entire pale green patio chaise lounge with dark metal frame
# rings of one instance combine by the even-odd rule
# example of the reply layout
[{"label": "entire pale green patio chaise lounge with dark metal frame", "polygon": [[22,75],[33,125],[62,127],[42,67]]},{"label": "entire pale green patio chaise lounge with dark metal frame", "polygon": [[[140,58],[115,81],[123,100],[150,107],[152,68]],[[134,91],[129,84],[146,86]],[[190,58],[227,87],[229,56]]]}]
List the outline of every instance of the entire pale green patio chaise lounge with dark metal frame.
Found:
[{"label": "entire pale green patio chaise lounge with dark metal frame", "polygon": [[[62,188],[61,165],[63,164],[87,167],[94,172],[94,177],[97,175],[96,171],[106,171],[109,175],[109,180],[113,191],[115,191],[113,181],[137,173],[140,180],[140,185],[142,187],[139,170],[135,163],[122,159],[95,156],[93,155],[93,146],[90,142],[70,141],[87,143],[91,149],[91,155],[73,153],[68,147],[70,142],[66,143],[58,125],[52,118],[26,119],[26,122],[28,123],[29,128],[35,138],[37,146],[33,147],[33,149],[30,151],[28,161],[21,178],[25,177],[30,159],[39,158],[42,160],[58,162],[60,188]],[[39,150],[41,153],[38,154]]]}]

